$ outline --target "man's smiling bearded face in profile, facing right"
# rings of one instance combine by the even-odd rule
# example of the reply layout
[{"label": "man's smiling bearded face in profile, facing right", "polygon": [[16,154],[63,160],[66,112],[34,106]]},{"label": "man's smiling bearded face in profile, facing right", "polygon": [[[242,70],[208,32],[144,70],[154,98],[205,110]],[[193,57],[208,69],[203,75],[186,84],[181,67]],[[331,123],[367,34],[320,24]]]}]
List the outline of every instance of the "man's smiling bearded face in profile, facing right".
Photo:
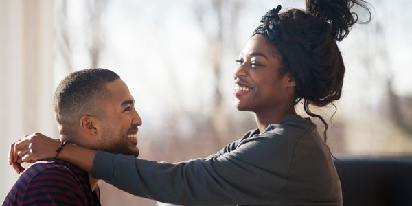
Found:
[{"label": "man's smiling bearded face in profile, facing right", "polygon": [[104,114],[98,131],[99,149],[137,157],[137,126],[141,125],[141,119],[135,111],[135,100],[120,79],[106,84],[106,89],[109,93],[102,100]]}]

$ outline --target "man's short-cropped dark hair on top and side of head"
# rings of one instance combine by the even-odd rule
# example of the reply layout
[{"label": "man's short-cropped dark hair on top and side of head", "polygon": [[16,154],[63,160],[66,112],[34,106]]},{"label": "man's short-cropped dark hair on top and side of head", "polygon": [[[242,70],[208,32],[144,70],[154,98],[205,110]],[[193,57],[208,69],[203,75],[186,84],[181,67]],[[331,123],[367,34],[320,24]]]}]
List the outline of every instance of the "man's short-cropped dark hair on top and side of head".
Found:
[{"label": "man's short-cropped dark hair on top and side of head", "polygon": [[64,126],[78,124],[82,115],[98,115],[106,84],[120,77],[108,69],[84,69],[65,77],[54,93],[57,122]]}]

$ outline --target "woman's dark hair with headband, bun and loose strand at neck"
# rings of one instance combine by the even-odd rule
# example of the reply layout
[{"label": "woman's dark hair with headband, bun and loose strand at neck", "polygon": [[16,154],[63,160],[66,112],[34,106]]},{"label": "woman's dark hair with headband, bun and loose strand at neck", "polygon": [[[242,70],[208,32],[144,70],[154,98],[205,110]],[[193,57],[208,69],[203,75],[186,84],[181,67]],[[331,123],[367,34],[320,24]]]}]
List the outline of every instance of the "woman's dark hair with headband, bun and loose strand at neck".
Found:
[{"label": "woman's dark hair with headband, bun and loose strand at neck", "polygon": [[365,1],[306,0],[306,10],[290,9],[278,14],[278,6],[269,11],[253,32],[253,36],[265,36],[273,45],[273,53],[282,57],[279,74],[292,74],[295,104],[303,101],[305,112],[321,119],[325,142],[328,124],[310,111],[309,104],[321,107],[341,98],[345,65],[336,41],[342,41],[358,22],[358,15],[350,11],[353,5],[367,11],[369,19],[364,23],[371,21],[369,3]]}]

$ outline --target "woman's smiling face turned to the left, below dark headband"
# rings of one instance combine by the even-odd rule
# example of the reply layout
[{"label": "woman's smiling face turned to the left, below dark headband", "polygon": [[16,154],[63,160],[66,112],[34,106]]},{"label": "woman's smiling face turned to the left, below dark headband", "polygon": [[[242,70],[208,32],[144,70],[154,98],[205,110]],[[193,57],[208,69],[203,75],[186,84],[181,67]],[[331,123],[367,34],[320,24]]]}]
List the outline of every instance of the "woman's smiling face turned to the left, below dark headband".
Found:
[{"label": "woman's smiling face turned to the left, below dark headband", "polygon": [[290,74],[279,74],[281,57],[271,52],[264,36],[253,36],[236,61],[233,94],[238,110],[258,113],[293,104],[295,81]]}]

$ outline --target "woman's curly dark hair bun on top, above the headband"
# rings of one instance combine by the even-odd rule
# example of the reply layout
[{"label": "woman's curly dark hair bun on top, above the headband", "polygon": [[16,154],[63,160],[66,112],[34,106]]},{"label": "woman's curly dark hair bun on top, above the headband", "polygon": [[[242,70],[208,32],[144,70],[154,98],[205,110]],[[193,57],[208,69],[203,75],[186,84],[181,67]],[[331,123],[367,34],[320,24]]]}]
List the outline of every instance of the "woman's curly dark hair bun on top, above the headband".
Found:
[{"label": "woman's curly dark hair bun on top, above the headband", "polygon": [[365,23],[369,22],[369,3],[362,0],[306,0],[306,14],[330,23],[332,38],[342,41],[349,34],[350,27],[358,22],[358,14],[350,11],[354,5],[367,10],[369,20]]}]

